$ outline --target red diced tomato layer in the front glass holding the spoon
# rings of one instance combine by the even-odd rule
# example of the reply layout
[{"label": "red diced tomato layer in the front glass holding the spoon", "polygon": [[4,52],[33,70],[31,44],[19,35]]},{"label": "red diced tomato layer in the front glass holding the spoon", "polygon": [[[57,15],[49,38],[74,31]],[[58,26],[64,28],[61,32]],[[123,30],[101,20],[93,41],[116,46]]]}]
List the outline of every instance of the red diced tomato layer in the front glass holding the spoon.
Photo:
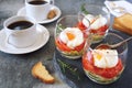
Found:
[{"label": "red diced tomato layer in the front glass holding the spoon", "polygon": [[86,70],[89,70],[91,73],[95,73],[96,75],[99,75],[105,78],[113,78],[119,75],[119,73],[122,70],[123,65],[121,59],[119,58],[118,64],[114,67],[111,68],[99,68],[94,65],[94,56],[91,55],[91,52],[87,53],[82,57],[82,66]]}]

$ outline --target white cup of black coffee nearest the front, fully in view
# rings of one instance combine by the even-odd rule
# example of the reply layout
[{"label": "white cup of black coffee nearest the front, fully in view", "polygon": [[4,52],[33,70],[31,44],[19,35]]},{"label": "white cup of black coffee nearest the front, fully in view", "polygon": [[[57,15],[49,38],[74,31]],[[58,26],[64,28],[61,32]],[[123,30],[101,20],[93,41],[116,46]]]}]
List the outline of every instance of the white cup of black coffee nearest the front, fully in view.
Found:
[{"label": "white cup of black coffee nearest the front, fully in view", "polygon": [[36,23],[29,16],[11,16],[3,23],[7,34],[7,44],[16,48],[25,48],[33,45],[37,37]]}]

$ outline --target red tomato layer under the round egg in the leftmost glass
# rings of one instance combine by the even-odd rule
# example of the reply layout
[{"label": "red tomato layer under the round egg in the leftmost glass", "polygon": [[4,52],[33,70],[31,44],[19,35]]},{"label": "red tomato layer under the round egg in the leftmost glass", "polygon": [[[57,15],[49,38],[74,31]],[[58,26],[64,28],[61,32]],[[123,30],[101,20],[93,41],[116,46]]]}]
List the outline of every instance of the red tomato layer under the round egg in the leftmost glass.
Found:
[{"label": "red tomato layer under the round egg in the leftmost glass", "polygon": [[81,50],[84,48],[85,41],[84,41],[80,45],[76,46],[75,48],[68,47],[64,42],[62,42],[62,41],[59,40],[59,37],[57,37],[57,38],[55,40],[55,44],[56,44],[56,46],[57,46],[61,51],[64,51],[64,52],[70,52],[70,51],[77,51],[77,52],[79,52],[79,51],[81,51]]}]

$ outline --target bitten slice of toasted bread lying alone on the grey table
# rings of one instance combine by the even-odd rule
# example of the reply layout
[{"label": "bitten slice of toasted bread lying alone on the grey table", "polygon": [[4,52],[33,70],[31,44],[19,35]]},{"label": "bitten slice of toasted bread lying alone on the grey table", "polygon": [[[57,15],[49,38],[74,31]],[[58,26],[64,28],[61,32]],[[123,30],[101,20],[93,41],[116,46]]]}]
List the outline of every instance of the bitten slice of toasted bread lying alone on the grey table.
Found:
[{"label": "bitten slice of toasted bread lying alone on the grey table", "polygon": [[32,75],[35,78],[41,79],[43,82],[46,84],[53,84],[55,81],[54,77],[50,75],[47,69],[44,65],[42,65],[42,62],[36,63],[32,68]]}]

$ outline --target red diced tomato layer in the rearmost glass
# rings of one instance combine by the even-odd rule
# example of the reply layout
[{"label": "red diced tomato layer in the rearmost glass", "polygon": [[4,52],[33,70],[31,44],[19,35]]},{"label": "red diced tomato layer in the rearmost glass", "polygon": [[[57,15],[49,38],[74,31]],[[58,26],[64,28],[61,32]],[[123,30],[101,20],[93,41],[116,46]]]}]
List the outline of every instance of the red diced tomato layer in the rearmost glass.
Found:
[{"label": "red diced tomato layer in the rearmost glass", "polygon": [[103,35],[106,33],[107,29],[108,29],[108,25],[106,24],[106,25],[99,28],[98,30],[90,29],[90,33],[98,33],[100,35]]}]

